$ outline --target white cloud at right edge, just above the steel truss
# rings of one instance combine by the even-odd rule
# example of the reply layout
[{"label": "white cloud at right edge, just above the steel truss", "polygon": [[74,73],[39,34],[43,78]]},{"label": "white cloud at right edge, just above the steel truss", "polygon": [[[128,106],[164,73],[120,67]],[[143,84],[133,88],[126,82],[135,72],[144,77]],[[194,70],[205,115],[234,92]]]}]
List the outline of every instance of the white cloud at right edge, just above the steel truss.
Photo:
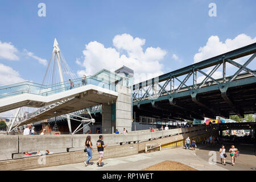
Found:
[{"label": "white cloud at right edge, just above the steel truss", "polygon": [[209,59],[210,57],[221,55],[222,53],[233,51],[234,49],[255,43],[256,37],[251,38],[246,34],[240,34],[234,39],[226,39],[221,42],[218,36],[210,36],[207,44],[199,48],[199,52],[194,56],[194,63]]}]

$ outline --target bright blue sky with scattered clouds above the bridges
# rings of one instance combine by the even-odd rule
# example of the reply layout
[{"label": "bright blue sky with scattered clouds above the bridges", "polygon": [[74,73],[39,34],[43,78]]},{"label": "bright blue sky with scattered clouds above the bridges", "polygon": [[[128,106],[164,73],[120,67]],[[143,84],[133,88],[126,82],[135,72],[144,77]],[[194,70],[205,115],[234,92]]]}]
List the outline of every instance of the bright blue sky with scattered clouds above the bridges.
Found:
[{"label": "bright blue sky with scattered clouds above the bridges", "polygon": [[[41,2],[46,4],[46,17],[38,16],[38,4]],[[216,17],[208,15],[208,5],[212,2],[217,5]],[[41,83],[47,67],[26,53],[31,52],[39,59],[49,61],[54,38],[57,38],[69,67],[78,76],[81,73],[90,75],[102,68],[101,57],[104,57],[106,68],[117,69],[115,67],[118,64],[113,63],[118,61],[121,55],[125,55],[127,59],[120,58],[120,64],[133,59],[138,61],[131,66],[134,66],[133,69],[139,74],[167,73],[198,61],[194,56],[200,53],[199,48],[204,47],[211,36],[217,36],[219,41],[225,44],[226,39],[234,40],[238,35],[244,34],[240,39],[234,40],[229,48],[239,46],[240,44],[233,45],[238,41],[242,46],[256,42],[255,7],[254,0],[2,0],[0,42],[13,45],[16,49],[14,55],[18,60],[6,58],[5,55],[1,57],[0,46],[0,66],[2,64],[2,68],[11,68],[8,70],[14,73],[8,73],[8,78],[12,78],[13,82],[20,78]],[[119,36],[114,45],[113,40],[117,35],[123,36]],[[140,46],[134,41],[135,38],[142,40],[138,43]],[[128,39],[129,43],[126,44]],[[216,39],[210,41],[214,42]],[[104,48],[100,48],[100,44],[104,45]],[[85,45],[90,46],[85,48]],[[126,45],[130,47],[127,48]],[[141,47],[144,53],[147,48],[155,48],[151,50],[154,53],[149,54],[151,57],[134,56],[134,52],[138,52]],[[221,53],[216,50],[213,52]],[[93,55],[92,52],[95,51],[96,55]],[[97,51],[100,51],[101,57],[97,57]],[[112,59],[112,53],[115,54],[115,59]],[[120,54],[119,58],[116,53]],[[2,51],[2,54],[5,54],[5,51]],[[213,55],[201,52],[199,59]],[[147,60],[151,61],[152,66],[147,65]],[[97,63],[98,68],[95,68],[93,63]],[[139,72],[143,65],[147,70]],[[11,82],[4,79],[0,85]]]}]

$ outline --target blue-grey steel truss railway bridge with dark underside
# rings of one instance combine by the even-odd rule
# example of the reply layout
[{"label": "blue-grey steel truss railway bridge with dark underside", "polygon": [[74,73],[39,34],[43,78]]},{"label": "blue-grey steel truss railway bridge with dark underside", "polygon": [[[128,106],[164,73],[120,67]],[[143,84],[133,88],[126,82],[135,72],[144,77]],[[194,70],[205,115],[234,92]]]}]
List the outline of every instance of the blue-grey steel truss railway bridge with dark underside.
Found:
[{"label": "blue-grey steel truss railway bridge with dark underside", "polygon": [[[256,113],[255,57],[256,43],[133,85],[134,111],[191,120]],[[236,71],[228,76],[227,67]]]}]

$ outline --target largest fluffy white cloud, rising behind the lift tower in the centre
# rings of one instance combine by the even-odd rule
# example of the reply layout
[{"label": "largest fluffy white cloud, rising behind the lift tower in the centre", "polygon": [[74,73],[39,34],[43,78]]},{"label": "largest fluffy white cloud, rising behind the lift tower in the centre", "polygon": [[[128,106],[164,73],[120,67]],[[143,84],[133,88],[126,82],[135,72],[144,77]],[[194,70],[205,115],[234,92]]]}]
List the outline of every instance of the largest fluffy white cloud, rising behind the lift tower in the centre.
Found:
[{"label": "largest fluffy white cloud, rising behind the lift tower in the centre", "polygon": [[[139,77],[155,77],[163,74],[163,64],[160,60],[166,56],[167,52],[159,47],[148,47],[143,51],[142,46],[145,39],[133,38],[129,34],[117,35],[113,39],[113,46],[106,48],[96,41],[85,45],[84,71],[78,71],[77,75],[93,75],[103,67],[114,71],[125,65],[134,70]],[[81,64],[79,60],[77,64]],[[150,78],[152,78],[150,77]],[[137,77],[137,79],[139,79]],[[144,81],[144,80],[143,80]]]}]

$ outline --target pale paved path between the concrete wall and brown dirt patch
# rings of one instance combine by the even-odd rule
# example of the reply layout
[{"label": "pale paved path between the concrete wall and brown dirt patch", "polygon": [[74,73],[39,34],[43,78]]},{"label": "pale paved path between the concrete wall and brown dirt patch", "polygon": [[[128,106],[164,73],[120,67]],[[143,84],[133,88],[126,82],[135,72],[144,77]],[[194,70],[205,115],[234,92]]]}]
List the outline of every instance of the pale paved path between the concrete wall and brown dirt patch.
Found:
[{"label": "pale paved path between the concrete wall and brown dirt patch", "polygon": [[[197,149],[199,150],[199,149]],[[154,166],[155,164],[172,160],[186,164],[198,170],[220,171],[227,170],[220,166],[209,164],[208,160],[199,158],[195,151],[185,150],[182,147],[167,148],[163,151],[150,152],[148,154],[137,154],[133,156],[125,156],[121,158],[104,159],[104,167],[97,167],[96,161],[91,161],[91,166],[85,167],[84,163],[67,164],[63,166],[38,168],[31,170],[46,171],[90,171],[90,170],[106,170],[106,171],[140,171],[144,168]]]}]

